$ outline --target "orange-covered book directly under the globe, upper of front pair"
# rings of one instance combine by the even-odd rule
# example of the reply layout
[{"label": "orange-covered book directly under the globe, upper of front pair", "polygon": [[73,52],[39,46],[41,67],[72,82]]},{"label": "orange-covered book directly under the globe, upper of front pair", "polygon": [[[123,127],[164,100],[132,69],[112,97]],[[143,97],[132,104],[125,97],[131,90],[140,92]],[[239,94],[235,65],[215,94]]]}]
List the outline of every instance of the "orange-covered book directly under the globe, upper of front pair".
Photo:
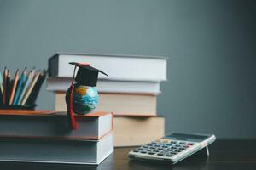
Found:
[{"label": "orange-covered book directly under the globe, upper of front pair", "polygon": [[111,112],[76,115],[79,129],[69,129],[67,112],[0,110],[0,137],[45,139],[101,139],[112,131]]}]

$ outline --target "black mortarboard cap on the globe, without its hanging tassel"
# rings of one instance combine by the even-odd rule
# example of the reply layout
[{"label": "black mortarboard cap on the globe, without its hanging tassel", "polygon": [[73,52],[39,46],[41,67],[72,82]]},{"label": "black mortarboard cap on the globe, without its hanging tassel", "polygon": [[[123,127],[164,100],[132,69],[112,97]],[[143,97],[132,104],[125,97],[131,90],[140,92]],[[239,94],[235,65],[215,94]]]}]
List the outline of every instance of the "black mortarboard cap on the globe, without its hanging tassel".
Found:
[{"label": "black mortarboard cap on the globe, without its hanging tassel", "polygon": [[77,76],[75,77],[75,81],[79,82],[80,85],[95,87],[97,85],[99,72],[108,76],[108,74],[106,74],[105,72],[100,71],[90,66],[89,64],[81,64],[75,62],[71,62],[69,64],[79,67],[79,71],[77,73]]}]

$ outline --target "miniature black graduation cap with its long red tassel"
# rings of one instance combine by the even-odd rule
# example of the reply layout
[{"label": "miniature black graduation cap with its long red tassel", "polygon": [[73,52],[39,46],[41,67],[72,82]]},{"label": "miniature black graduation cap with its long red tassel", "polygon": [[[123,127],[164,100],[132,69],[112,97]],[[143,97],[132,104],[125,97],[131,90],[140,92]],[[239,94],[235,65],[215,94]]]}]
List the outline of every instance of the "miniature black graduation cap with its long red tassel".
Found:
[{"label": "miniature black graduation cap with its long red tassel", "polygon": [[[74,112],[73,112],[73,88],[74,88],[73,83],[74,83],[74,80],[76,82],[78,82],[79,85],[96,87],[99,72],[106,76],[108,76],[108,74],[90,66],[87,63],[71,62],[69,64],[74,65],[75,67],[73,70],[73,79],[72,79],[72,83],[71,83],[71,87],[70,87],[71,93],[69,96],[69,103],[67,104],[67,115],[69,116],[71,129],[75,130],[78,128],[78,123],[75,121]],[[79,67],[79,71],[75,77],[75,72],[76,72],[77,67]],[[67,91],[67,93],[68,93],[68,91]]]}]

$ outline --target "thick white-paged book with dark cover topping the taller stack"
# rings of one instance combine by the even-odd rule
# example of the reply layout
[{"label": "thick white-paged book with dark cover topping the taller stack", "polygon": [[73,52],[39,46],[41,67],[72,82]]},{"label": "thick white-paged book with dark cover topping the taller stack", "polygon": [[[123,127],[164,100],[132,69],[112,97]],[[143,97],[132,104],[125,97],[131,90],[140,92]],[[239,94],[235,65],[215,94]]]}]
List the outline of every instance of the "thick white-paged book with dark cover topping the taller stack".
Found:
[{"label": "thick white-paged book with dark cover topping the taller stack", "polygon": [[49,58],[50,77],[73,77],[69,62],[89,63],[109,76],[100,79],[122,81],[166,81],[164,57],[108,54],[55,54]]}]

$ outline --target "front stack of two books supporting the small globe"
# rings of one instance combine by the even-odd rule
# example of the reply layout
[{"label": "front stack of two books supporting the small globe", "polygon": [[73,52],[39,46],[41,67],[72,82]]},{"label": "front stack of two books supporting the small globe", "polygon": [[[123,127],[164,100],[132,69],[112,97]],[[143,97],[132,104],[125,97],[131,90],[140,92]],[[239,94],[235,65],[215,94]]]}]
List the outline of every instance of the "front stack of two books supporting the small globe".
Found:
[{"label": "front stack of two books supporting the small globe", "polygon": [[0,161],[100,164],[113,152],[113,114],[67,116],[53,111],[0,110]]}]

